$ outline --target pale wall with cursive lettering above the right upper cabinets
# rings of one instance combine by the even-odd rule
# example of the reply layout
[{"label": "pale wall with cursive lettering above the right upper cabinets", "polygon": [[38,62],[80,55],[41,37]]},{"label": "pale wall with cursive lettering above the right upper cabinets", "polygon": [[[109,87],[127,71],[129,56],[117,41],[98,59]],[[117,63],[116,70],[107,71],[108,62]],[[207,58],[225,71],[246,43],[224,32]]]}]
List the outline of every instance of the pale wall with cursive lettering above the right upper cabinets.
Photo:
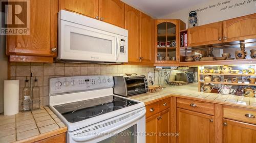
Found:
[{"label": "pale wall with cursive lettering above the right upper cabinets", "polygon": [[[224,2],[227,3],[224,4]],[[240,3],[243,5],[238,6]],[[209,6],[214,5],[215,7],[209,8]],[[226,9],[221,10],[223,8]],[[256,0],[210,0],[175,13],[170,13],[162,16],[159,19],[181,19],[187,25],[188,14],[193,10],[197,11],[198,13],[199,25],[204,25],[256,13]]]}]

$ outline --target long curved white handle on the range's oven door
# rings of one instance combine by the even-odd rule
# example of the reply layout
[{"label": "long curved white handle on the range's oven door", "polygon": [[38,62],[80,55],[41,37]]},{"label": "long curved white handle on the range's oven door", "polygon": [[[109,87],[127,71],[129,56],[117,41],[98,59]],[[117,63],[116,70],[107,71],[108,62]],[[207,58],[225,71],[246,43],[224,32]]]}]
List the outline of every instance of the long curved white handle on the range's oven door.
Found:
[{"label": "long curved white handle on the range's oven door", "polygon": [[134,121],[136,121],[136,120],[142,118],[143,116],[145,116],[145,113],[146,113],[146,110],[143,110],[143,111],[140,113],[140,115],[139,115],[138,117],[135,117],[135,118],[129,120],[129,122],[125,122],[125,123],[123,123],[123,124],[121,124],[121,125],[115,126],[114,128],[111,128],[111,129],[109,129],[109,130],[105,130],[105,131],[100,132],[100,133],[97,133],[97,134],[95,134],[95,135],[90,135],[90,136],[89,136],[89,135],[88,135],[88,136],[77,136],[77,135],[75,135],[75,136],[72,136],[72,139],[73,139],[74,141],[77,141],[77,142],[84,142],[84,141],[91,140],[91,139],[93,139],[93,138],[97,138],[97,137],[99,137],[100,135],[108,134],[108,133],[111,133],[111,132],[113,132],[113,131],[115,131],[115,130],[117,130],[117,129],[123,128],[123,127],[125,127],[126,125],[130,125],[130,124],[133,123]]}]

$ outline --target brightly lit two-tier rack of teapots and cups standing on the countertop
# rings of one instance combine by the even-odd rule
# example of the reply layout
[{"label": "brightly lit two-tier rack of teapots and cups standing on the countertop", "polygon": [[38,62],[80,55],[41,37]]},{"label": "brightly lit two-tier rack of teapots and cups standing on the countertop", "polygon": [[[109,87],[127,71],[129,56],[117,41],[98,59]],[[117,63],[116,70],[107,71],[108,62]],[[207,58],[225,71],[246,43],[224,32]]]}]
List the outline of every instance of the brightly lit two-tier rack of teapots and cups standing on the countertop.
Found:
[{"label": "brightly lit two-tier rack of teapots and cups standing on the countertop", "polygon": [[255,97],[256,64],[199,66],[198,91]]}]

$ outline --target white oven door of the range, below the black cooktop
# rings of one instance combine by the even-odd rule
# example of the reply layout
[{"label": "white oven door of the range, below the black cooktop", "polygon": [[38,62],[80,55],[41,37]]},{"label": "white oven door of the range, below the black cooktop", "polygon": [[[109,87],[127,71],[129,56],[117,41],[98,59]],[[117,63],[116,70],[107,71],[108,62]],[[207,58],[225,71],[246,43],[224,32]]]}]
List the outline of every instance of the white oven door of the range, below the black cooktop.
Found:
[{"label": "white oven door of the range, below the black cooktop", "polygon": [[145,108],[125,113],[108,121],[69,132],[69,142],[145,143]]}]

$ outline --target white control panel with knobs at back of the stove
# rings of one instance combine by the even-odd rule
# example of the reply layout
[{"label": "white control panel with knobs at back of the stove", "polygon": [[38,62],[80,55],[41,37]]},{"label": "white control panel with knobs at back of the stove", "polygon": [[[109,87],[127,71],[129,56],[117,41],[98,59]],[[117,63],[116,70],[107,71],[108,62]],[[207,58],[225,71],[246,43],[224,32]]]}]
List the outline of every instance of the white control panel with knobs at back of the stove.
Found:
[{"label": "white control panel with knobs at back of the stove", "polygon": [[70,76],[49,80],[50,95],[113,87],[113,76]]}]

